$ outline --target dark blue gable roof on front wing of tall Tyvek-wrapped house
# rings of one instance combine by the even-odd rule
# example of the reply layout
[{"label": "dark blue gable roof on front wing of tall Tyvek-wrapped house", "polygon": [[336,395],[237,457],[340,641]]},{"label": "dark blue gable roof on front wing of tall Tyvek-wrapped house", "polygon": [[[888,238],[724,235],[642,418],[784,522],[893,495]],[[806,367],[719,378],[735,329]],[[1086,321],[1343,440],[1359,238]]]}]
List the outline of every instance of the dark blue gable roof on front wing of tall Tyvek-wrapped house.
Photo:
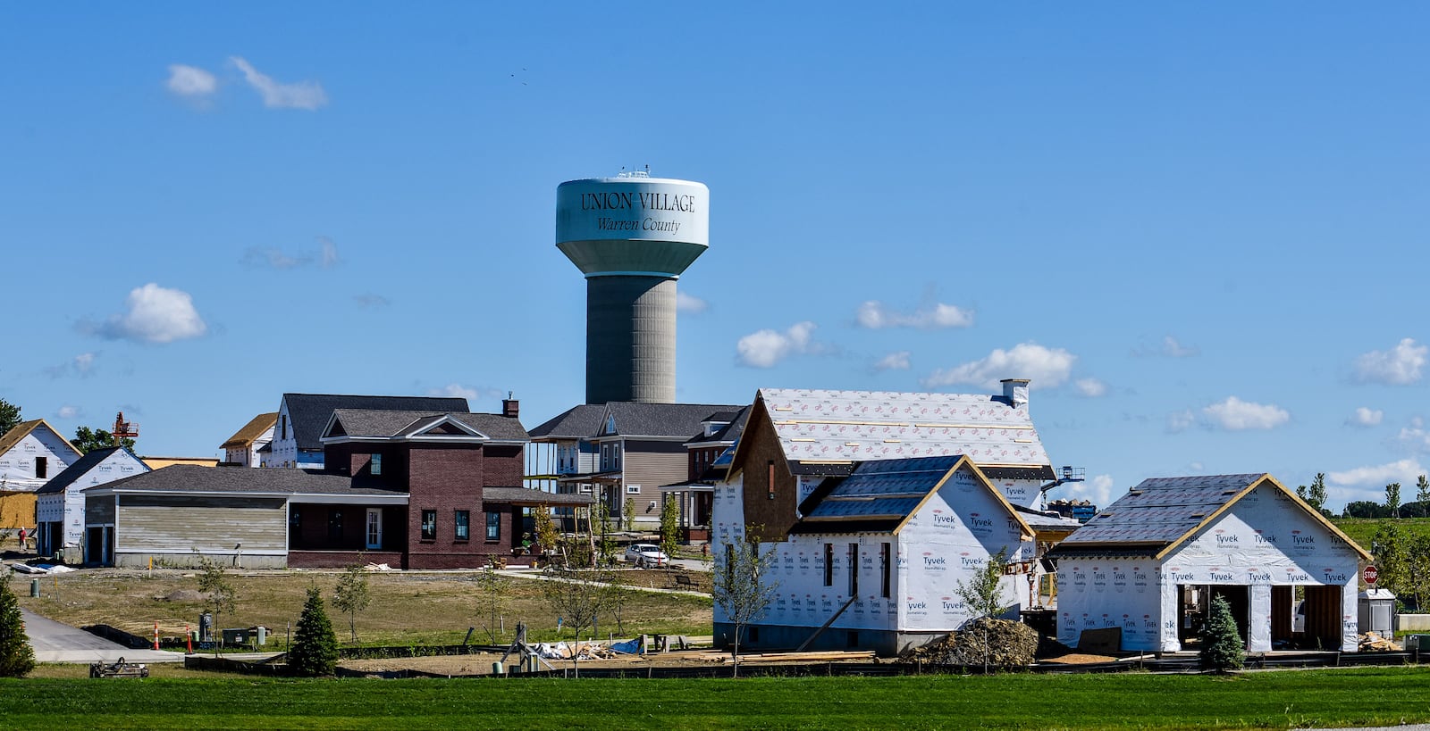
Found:
[{"label": "dark blue gable roof on front wing of tall Tyvek-wrapped house", "polygon": [[[799,505],[804,518],[795,533],[827,530],[842,523],[858,523],[859,530],[897,534],[919,508],[960,470],[968,470],[998,505],[1022,528],[1027,540],[1032,527],[1002,491],[964,455],[918,457],[909,460],[871,460],[859,463],[848,477],[825,480]],[[957,505],[955,505],[957,507]]]}]

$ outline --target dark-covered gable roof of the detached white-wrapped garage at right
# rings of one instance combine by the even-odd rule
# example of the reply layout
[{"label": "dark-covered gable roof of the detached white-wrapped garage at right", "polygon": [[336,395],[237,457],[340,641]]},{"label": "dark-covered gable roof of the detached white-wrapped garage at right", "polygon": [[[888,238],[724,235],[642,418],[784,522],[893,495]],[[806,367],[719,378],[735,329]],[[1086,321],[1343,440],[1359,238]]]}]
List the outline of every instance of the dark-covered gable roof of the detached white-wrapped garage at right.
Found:
[{"label": "dark-covered gable roof of the detached white-wrapped garage at right", "polygon": [[1093,520],[1058,544],[1054,553],[1115,547],[1163,558],[1211,525],[1253,490],[1268,485],[1291,498],[1291,504],[1346,541],[1363,560],[1370,554],[1356,545],[1320,511],[1266,473],[1205,477],[1154,477],[1143,480]]}]

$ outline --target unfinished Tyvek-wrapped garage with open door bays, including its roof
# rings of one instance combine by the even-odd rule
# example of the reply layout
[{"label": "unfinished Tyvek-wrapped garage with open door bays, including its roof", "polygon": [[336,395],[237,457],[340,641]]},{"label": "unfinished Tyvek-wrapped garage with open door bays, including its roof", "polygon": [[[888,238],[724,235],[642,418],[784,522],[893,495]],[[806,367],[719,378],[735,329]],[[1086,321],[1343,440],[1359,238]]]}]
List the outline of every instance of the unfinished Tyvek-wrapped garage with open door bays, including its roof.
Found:
[{"label": "unfinished Tyvek-wrapped garage with open door bays, including its roof", "polygon": [[1253,652],[1357,647],[1354,541],[1268,474],[1144,480],[1054,547],[1058,641],[1197,647],[1224,597]]}]

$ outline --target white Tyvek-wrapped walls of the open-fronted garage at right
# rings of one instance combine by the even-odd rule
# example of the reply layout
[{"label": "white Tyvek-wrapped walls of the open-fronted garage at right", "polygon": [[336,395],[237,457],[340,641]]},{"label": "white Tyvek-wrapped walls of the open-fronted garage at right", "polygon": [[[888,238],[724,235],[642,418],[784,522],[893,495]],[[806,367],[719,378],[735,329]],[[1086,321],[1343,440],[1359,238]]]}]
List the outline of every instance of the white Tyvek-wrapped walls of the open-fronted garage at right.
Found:
[{"label": "white Tyvek-wrapped walls of the open-fronted garage at right", "polygon": [[[1338,585],[1341,650],[1354,651],[1358,555],[1294,500],[1263,484],[1160,561],[1064,557],[1058,563],[1058,641],[1075,645],[1083,630],[1123,627],[1124,650],[1177,651],[1178,585],[1246,585],[1247,648],[1268,651],[1273,585]],[[1155,593],[1148,591],[1151,583]],[[1147,624],[1154,617],[1155,638],[1148,637]],[[1128,622],[1137,625],[1135,632],[1128,632]]]}]

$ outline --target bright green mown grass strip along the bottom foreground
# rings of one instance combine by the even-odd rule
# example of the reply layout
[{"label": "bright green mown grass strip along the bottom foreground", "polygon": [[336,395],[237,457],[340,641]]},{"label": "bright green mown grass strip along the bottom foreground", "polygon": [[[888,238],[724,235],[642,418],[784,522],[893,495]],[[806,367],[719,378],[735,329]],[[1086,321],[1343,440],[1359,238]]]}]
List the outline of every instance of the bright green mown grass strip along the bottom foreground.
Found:
[{"label": "bright green mown grass strip along the bottom foreground", "polygon": [[1426,668],[745,680],[0,681],[16,728],[1294,728],[1430,721]]}]

